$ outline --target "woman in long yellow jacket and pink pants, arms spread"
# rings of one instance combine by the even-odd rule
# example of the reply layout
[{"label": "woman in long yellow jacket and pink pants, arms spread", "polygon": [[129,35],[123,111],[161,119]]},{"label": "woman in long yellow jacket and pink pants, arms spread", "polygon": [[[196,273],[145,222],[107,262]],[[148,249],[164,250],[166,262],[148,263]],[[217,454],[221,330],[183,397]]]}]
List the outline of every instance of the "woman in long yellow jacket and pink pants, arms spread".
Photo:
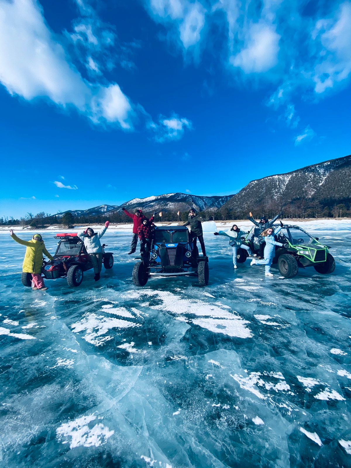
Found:
[{"label": "woman in long yellow jacket and pink pants, arms spread", "polygon": [[45,244],[40,234],[34,234],[33,239],[31,241],[22,241],[19,239],[14,231],[10,229],[11,237],[14,241],[18,242],[19,244],[25,245],[27,247],[26,254],[24,256],[23,267],[22,271],[24,273],[31,273],[33,282],[35,284],[35,288],[33,289],[40,289],[42,291],[46,291],[48,288],[44,285],[44,280],[42,278],[42,266],[43,266],[43,253],[53,260],[54,257],[49,254],[49,252],[45,249]]}]

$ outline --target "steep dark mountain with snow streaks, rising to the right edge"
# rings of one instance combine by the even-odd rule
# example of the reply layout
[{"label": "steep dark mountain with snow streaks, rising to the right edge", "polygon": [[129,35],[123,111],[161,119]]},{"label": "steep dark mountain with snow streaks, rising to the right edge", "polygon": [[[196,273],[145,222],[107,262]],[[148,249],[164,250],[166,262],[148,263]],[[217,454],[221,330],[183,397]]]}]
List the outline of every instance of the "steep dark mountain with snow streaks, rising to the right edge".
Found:
[{"label": "steep dark mountain with snow streaks, rising to the right edge", "polygon": [[324,161],[286,174],[250,182],[224,205],[229,210],[253,210],[259,205],[287,205],[298,199],[333,206],[351,202],[351,155]]}]

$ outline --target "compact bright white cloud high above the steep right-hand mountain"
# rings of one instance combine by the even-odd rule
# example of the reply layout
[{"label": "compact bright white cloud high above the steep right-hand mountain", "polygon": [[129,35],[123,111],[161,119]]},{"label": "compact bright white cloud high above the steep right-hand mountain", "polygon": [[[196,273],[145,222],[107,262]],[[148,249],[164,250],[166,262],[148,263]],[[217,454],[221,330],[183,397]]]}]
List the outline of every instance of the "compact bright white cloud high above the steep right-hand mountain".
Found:
[{"label": "compact bright white cloud high above the steep right-hand mountain", "polygon": [[233,66],[245,73],[263,73],[278,63],[280,36],[267,24],[253,24],[245,48],[231,57]]}]

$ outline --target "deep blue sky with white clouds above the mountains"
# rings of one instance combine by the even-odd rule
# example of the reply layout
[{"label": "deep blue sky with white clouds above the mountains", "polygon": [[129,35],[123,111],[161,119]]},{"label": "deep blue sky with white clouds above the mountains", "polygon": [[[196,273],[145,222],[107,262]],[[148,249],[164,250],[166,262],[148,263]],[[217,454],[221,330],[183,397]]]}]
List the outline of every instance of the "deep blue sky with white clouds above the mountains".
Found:
[{"label": "deep blue sky with white clouds above the mountains", "polygon": [[350,154],[351,3],[0,0],[0,216]]}]

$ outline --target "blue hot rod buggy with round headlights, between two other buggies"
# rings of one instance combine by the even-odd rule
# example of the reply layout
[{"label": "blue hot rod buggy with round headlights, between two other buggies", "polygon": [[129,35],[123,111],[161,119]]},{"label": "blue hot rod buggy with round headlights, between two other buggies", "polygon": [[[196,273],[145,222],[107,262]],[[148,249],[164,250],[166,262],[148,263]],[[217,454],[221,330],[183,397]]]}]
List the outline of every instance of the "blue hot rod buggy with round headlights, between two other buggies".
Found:
[{"label": "blue hot rod buggy with round headlights, between two other buggies", "polygon": [[[150,255],[151,254],[151,255]],[[134,265],[133,283],[145,286],[153,276],[197,276],[208,284],[208,257],[199,256],[185,226],[156,226],[150,252]]]}]

